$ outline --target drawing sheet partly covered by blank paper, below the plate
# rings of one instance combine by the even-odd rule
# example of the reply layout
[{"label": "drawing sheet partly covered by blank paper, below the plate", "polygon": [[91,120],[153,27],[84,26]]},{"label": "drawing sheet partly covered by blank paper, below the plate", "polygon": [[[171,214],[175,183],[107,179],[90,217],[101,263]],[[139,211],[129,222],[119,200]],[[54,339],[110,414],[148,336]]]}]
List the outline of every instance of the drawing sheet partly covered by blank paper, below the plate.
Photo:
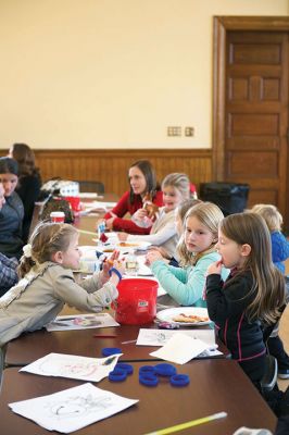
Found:
[{"label": "drawing sheet partly covered by blank paper, below the plate", "polygon": [[173,335],[185,334],[191,338],[199,338],[210,346],[210,349],[216,348],[214,330],[147,330],[140,328],[137,339],[138,346],[164,346]]}]

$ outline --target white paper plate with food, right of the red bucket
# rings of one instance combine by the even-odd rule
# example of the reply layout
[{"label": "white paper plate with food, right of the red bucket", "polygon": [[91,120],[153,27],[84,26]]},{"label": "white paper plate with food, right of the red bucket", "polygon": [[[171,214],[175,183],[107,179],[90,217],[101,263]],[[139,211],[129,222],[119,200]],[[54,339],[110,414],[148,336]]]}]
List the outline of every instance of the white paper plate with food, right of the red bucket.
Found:
[{"label": "white paper plate with food, right of the red bucket", "polygon": [[201,307],[177,307],[177,308],[168,308],[167,310],[162,310],[156,313],[156,319],[162,322],[171,322],[176,323],[180,326],[199,326],[199,325],[208,325],[211,323],[210,320],[205,322],[176,322],[173,319],[179,314],[186,315],[201,315],[202,318],[208,318],[206,308]]}]

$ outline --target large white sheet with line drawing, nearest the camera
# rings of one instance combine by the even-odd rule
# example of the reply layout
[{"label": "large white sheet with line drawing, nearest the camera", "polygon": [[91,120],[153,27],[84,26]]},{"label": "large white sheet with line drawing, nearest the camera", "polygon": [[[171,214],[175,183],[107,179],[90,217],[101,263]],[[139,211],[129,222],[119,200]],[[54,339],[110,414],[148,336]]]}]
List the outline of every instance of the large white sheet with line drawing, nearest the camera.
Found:
[{"label": "large white sheet with line drawing, nearest the camera", "polygon": [[48,431],[68,434],[137,402],[86,383],[52,395],[9,403],[9,407]]}]

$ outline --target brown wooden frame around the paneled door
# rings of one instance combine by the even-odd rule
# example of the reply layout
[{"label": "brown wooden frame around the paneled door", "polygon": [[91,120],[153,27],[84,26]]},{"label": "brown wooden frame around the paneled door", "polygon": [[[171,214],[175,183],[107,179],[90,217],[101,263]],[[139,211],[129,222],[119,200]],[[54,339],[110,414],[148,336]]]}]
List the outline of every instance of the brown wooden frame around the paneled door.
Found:
[{"label": "brown wooden frame around the paneled door", "polygon": [[[229,30],[289,32],[289,16],[214,16],[212,174],[218,182],[225,177],[226,39]],[[289,153],[286,183],[289,192]],[[289,204],[284,219],[289,228]]]}]

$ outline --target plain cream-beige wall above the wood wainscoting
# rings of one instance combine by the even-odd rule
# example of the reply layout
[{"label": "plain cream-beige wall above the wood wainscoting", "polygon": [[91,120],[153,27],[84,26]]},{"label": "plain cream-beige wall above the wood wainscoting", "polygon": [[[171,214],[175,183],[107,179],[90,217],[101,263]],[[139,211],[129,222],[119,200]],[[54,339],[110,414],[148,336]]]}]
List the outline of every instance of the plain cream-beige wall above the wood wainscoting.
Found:
[{"label": "plain cream-beige wall above the wood wainscoting", "polygon": [[213,15],[288,12],[288,0],[0,0],[0,148],[210,148]]}]

